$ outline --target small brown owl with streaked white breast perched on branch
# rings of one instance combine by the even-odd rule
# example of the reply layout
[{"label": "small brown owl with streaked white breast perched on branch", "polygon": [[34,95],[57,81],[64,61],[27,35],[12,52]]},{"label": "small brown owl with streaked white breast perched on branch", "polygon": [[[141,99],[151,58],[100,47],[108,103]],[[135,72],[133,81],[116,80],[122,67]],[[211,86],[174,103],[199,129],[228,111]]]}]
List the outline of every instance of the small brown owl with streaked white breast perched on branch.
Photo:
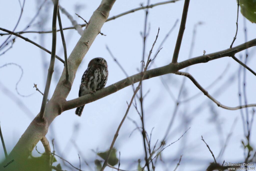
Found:
[{"label": "small brown owl with streaked white breast perched on branch", "polygon": [[[108,65],[104,58],[94,58],[89,64],[88,68],[84,71],[78,96],[94,93],[105,87],[108,80]],[[76,109],[76,115],[81,116],[84,105]]]}]

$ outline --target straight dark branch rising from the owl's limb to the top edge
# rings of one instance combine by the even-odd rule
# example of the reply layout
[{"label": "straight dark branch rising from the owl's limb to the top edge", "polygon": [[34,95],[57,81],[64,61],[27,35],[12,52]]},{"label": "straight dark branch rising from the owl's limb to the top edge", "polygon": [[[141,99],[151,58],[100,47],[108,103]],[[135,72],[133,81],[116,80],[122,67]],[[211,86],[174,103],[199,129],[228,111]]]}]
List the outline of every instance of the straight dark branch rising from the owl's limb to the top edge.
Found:
[{"label": "straight dark branch rising from the owl's limb to the top edge", "polygon": [[185,2],[184,2],[182,18],[181,18],[180,27],[179,27],[179,33],[178,33],[176,45],[175,45],[174,52],[173,52],[172,63],[177,63],[177,61],[178,61],[180,45],[182,42],[185,25],[186,25],[186,20],[187,20],[189,1],[190,0],[185,0]]}]

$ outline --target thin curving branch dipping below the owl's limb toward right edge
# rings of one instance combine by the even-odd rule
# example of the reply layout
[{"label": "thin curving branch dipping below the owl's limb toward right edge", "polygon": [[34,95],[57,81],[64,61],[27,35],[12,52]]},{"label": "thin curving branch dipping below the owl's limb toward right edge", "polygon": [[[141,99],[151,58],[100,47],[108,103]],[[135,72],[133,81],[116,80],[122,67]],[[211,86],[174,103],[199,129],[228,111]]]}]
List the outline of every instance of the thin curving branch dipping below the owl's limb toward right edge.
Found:
[{"label": "thin curving branch dipping below the owl's limb toward right edge", "polygon": [[236,107],[225,106],[225,105],[221,104],[219,101],[217,101],[214,97],[212,97],[212,96],[208,93],[208,91],[206,91],[206,90],[196,81],[196,79],[195,79],[190,73],[177,71],[177,72],[175,72],[175,74],[188,77],[188,78],[195,84],[195,86],[196,86],[199,90],[201,90],[201,91],[204,93],[204,95],[206,95],[209,99],[211,99],[214,103],[216,103],[219,107],[221,107],[221,108],[223,108],[223,109],[238,110],[238,109],[242,109],[242,108],[247,108],[247,107],[256,106],[256,104],[241,105],[241,106],[236,106]]}]

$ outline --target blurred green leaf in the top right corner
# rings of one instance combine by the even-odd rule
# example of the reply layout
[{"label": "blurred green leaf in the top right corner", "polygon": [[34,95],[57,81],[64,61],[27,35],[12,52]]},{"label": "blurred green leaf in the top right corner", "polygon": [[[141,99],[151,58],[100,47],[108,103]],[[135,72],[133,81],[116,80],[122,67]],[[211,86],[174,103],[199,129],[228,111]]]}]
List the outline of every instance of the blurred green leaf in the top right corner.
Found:
[{"label": "blurred green leaf in the top right corner", "polygon": [[239,0],[241,13],[252,23],[256,23],[256,0]]}]

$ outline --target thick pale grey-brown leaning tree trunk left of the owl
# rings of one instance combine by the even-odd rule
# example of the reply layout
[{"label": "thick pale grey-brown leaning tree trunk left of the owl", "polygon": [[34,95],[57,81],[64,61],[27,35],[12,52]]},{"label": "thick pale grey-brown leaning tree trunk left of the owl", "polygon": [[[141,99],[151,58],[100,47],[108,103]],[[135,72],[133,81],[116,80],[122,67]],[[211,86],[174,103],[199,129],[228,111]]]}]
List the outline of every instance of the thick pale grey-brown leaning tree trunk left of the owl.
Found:
[{"label": "thick pale grey-brown leaning tree trunk left of the owl", "polygon": [[[94,39],[99,34],[99,30],[105,23],[109,16],[109,11],[111,10],[115,0],[102,0],[99,7],[94,11],[90,18],[90,24],[87,29],[83,32],[81,38],[77,42],[73,51],[71,52],[69,61],[69,81],[70,85],[65,84],[65,70],[63,70],[60,80],[55,88],[52,98],[46,105],[45,109],[45,122],[40,123],[34,119],[23,135],[20,137],[19,141],[13,148],[13,150],[8,155],[7,162],[9,159],[14,159],[12,165],[8,166],[7,170],[15,170],[19,165],[24,164],[24,161],[31,154],[38,141],[40,141],[48,132],[49,125],[51,122],[62,112],[62,104],[67,98],[71,85],[74,81],[77,69],[83,60],[84,56],[88,52],[90,46],[92,45]],[[56,13],[57,14],[57,13]],[[13,169],[14,168],[14,169]],[[17,169],[16,169],[17,170]]]}]

